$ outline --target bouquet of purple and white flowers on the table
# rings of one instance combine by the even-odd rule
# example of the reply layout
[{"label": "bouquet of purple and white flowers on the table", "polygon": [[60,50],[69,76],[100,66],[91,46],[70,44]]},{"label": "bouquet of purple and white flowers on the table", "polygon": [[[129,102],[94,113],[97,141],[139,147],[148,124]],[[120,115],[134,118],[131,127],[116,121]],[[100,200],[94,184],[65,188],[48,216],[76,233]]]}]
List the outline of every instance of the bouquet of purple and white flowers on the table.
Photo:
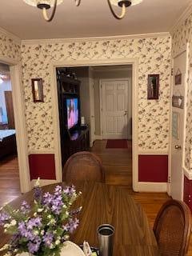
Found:
[{"label": "bouquet of purple and white flowers on the table", "polygon": [[70,210],[80,193],[74,186],[56,186],[54,194],[42,194],[39,179],[34,186],[34,206],[22,202],[18,210],[4,206],[0,210],[0,226],[6,234],[12,234],[10,242],[3,246],[6,255],[22,252],[38,256],[59,255],[63,243],[78,227],[74,215],[81,210]]}]

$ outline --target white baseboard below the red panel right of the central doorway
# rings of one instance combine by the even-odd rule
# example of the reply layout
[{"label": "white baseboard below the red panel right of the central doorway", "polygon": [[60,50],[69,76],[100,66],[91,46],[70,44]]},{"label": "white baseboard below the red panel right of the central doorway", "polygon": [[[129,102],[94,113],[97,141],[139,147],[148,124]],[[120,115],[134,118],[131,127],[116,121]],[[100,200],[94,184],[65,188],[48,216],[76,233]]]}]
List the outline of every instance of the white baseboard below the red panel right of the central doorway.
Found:
[{"label": "white baseboard below the red panel right of the central doorway", "polygon": [[167,192],[167,183],[138,182],[138,192]]}]

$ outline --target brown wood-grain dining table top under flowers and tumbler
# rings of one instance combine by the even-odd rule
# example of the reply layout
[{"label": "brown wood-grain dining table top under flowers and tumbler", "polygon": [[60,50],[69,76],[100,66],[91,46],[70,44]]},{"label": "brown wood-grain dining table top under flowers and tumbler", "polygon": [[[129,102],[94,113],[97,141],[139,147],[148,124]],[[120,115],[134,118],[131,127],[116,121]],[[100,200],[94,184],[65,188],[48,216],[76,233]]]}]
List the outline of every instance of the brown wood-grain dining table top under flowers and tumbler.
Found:
[{"label": "brown wood-grain dining table top under flowers and tumbler", "polygon": [[[65,183],[59,184],[66,186]],[[52,192],[55,186],[44,186],[42,189]],[[107,223],[114,226],[115,230],[113,256],[159,255],[146,214],[142,206],[130,196],[129,190],[99,182],[78,183],[76,190],[82,191],[82,195],[74,203],[74,208],[82,206],[82,211],[78,214],[78,229],[70,236],[70,241],[82,245],[86,240],[90,246],[98,247],[98,226]],[[23,200],[32,204],[33,191],[23,194],[10,205],[18,209]],[[8,241],[9,236],[1,229],[0,248]]]}]

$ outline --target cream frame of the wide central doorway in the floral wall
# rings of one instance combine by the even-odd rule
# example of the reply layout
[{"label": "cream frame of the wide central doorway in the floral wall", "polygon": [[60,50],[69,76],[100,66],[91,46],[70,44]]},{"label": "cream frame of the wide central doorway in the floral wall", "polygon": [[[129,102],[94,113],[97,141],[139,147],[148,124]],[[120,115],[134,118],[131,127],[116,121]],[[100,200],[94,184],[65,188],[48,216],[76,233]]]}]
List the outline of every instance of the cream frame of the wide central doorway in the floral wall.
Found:
[{"label": "cream frame of the wide central doorway in the floral wall", "polygon": [[52,94],[52,106],[54,116],[54,160],[56,169],[57,181],[62,181],[62,154],[60,143],[60,127],[59,127],[59,115],[58,115],[58,94],[57,90],[57,67],[78,67],[78,66],[114,66],[114,65],[132,65],[132,181],[133,190],[138,191],[138,58],[128,59],[98,59],[98,60],[64,60],[62,62],[50,63],[50,75],[51,75],[51,94]]}]

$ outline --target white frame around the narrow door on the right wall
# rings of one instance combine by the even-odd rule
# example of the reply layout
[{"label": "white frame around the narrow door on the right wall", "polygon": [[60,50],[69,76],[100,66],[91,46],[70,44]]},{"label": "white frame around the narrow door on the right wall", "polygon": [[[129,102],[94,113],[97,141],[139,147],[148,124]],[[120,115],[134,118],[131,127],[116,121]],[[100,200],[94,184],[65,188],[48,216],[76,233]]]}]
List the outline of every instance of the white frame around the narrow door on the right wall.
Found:
[{"label": "white frame around the narrow door on the right wall", "polygon": [[[185,90],[185,101],[184,101],[184,107],[183,107],[183,118],[184,118],[184,130],[183,130],[183,143],[182,143],[182,174],[184,176],[184,173],[188,173],[186,166],[185,166],[185,157],[186,157],[186,152],[185,152],[185,146],[186,146],[186,102],[187,102],[187,66],[189,64],[189,50],[190,50],[190,44],[189,42],[186,42],[186,45],[180,47],[178,52],[172,56],[171,59],[171,66],[172,66],[172,78],[171,78],[171,90],[170,90],[170,98],[172,98],[173,95],[173,90],[174,90],[174,58],[177,58],[179,55],[181,55],[183,52],[186,51],[186,76],[185,76],[185,81],[184,81],[184,86],[186,86]],[[167,183],[167,194],[171,196],[171,190],[170,190],[170,184],[171,184],[171,146],[172,146],[172,112],[173,112],[173,106],[172,106],[172,101],[170,101],[170,149],[169,149],[169,168],[168,168],[168,183]],[[184,178],[184,177],[183,177]],[[182,198],[183,198],[183,192],[184,192],[184,179],[182,182]]]}]

